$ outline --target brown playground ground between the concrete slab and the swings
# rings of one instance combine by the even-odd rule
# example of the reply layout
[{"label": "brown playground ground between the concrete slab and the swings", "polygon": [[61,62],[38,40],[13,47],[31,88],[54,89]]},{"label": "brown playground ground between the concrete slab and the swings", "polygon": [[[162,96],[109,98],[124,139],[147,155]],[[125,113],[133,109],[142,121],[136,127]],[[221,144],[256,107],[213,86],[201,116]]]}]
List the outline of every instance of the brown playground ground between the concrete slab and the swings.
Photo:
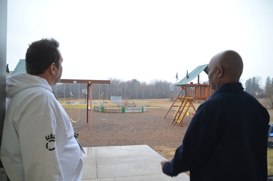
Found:
[{"label": "brown playground ground between the concrete slab and the swings", "polygon": [[[70,115],[69,110],[67,113]],[[92,111],[92,130],[86,122],[86,111],[80,110],[80,120],[72,122],[74,130],[79,134],[83,147],[121,146],[147,144],[167,160],[174,156],[175,149],[181,144],[191,120],[187,116],[183,126],[173,124],[174,111],[171,110],[166,119],[166,109],[148,108],[143,113],[101,113]],[[73,117],[78,116],[76,110]],[[103,121],[102,119],[106,120]],[[75,119],[77,120],[77,119]]]}]

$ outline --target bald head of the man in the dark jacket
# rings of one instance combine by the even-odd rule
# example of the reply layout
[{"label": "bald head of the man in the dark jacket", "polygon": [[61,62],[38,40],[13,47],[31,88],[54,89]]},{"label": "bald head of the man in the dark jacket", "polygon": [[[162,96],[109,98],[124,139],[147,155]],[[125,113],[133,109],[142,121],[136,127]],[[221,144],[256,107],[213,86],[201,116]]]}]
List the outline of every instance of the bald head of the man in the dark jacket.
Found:
[{"label": "bald head of the man in the dark jacket", "polygon": [[243,72],[243,60],[237,52],[226,50],[212,58],[208,71],[210,84],[216,90],[223,83],[239,82]]}]

